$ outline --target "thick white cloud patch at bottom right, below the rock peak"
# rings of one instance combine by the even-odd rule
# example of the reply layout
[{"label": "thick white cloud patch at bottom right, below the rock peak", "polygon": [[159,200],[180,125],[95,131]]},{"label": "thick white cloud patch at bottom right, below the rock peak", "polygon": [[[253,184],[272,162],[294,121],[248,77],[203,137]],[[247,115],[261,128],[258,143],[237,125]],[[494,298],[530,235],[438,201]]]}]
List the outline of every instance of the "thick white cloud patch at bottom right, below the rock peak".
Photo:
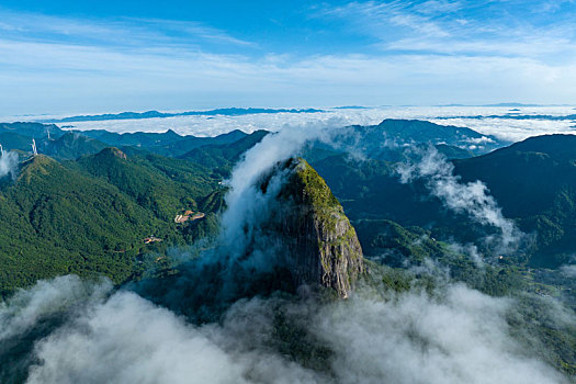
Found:
[{"label": "thick white cloud patch at bottom right, below the rock peak", "polygon": [[332,364],[342,382],[563,381],[542,363],[519,358],[504,320],[509,302],[460,285],[444,294],[352,300],[325,309],[323,335],[342,351]]}]

